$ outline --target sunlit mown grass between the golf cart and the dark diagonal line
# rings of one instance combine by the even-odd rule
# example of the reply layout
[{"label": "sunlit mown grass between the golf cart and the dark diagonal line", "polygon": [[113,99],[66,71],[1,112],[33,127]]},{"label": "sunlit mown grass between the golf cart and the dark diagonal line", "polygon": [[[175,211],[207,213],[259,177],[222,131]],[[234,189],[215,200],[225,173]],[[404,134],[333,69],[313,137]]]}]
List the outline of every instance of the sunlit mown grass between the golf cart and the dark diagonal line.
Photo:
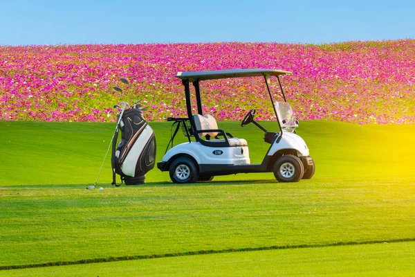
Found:
[{"label": "sunlit mown grass between the golf cart and the dark diagonal line", "polygon": [[[1,266],[415,238],[415,182],[7,186]],[[42,253],[42,255],[39,255]]]}]

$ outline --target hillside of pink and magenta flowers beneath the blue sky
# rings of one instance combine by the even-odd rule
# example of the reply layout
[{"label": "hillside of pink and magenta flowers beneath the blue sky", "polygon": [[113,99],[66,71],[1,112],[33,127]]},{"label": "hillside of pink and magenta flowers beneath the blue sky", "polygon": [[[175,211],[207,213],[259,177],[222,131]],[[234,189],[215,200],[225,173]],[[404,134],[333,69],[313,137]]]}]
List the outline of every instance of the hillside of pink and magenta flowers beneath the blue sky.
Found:
[{"label": "hillside of pink and magenta flowers beneath the blue sky", "polygon": [[[178,71],[282,69],[300,120],[415,123],[415,39],[339,44],[206,43],[0,46],[0,120],[113,121],[113,105],[141,100],[145,118],[185,116]],[[127,78],[129,85],[120,78]],[[271,78],[276,100],[282,100]],[[261,78],[201,82],[217,120],[273,111]]]}]

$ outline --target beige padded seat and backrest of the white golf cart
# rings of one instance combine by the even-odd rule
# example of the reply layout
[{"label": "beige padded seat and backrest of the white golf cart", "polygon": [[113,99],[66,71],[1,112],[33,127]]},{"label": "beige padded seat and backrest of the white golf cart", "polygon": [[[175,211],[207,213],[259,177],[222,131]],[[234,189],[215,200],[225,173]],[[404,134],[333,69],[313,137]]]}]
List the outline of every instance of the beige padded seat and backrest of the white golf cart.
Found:
[{"label": "beige padded seat and backrest of the white golf cart", "polygon": [[[225,143],[225,139],[216,139],[216,136],[219,135],[219,132],[217,132],[218,124],[216,123],[216,120],[213,116],[210,116],[209,114],[201,115],[201,114],[195,114],[193,116],[194,119],[194,125],[196,125],[197,131],[209,131],[212,130],[212,132],[203,132],[199,133],[199,136],[209,136],[209,138],[215,138],[210,139],[209,142],[211,143]],[[238,139],[234,137],[228,138],[229,146],[247,146],[248,143],[245,139]],[[214,146],[214,145],[212,145]]]}]

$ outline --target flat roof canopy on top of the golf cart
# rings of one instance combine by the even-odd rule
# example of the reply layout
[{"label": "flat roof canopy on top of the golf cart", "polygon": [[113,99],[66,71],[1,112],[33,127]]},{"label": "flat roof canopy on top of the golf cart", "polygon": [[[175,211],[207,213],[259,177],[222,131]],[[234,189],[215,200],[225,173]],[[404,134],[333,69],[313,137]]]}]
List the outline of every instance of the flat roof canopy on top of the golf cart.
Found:
[{"label": "flat roof canopy on top of the golf cart", "polygon": [[213,80],[225,78],[239,78],[250,76],[264,76],[264,75],[291,75],[291,71],[283,71],[277,69],[228,69],[216,71],[194,71],[194,72],[178,72],[176,77],[181,80],[189,80],[194,82],[196,80]]}]

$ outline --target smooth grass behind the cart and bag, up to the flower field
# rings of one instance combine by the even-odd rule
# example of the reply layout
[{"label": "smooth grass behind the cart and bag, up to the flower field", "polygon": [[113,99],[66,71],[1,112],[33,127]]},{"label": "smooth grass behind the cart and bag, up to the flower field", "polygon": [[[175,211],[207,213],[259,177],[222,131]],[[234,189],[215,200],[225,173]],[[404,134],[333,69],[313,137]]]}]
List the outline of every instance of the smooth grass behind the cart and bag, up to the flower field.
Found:
[{"label": "smooth grass behind the cart and bag, up to the flower field", "polygon": [[[262,123],[275,130],[275,122]],[[156,132],[157,161],[170,139],[171,123],[151,123]],[[269,148],[255,125],[238,122],[219,126],[247,139],[252,163],[261,163]],[[41,123],[0,121],[0,186],[27,184],[93,184],[113,134],[111,123]],[[319,177],[376,177],[407,175],[415,155],[415,125],[352,125],[333,121],[304,121],[298,134],[317,163]],[[185,141],[178,133],[175,141]],[[111,153],[109,153],[111,157]],[[111,183],[109,157],[100,183]],[[391,165],[400,163],[400,166]],[[215,180],[273,180],[273,174],[217,177]],[[151,170],[147,181],[169,181],[167,172]]]}]

